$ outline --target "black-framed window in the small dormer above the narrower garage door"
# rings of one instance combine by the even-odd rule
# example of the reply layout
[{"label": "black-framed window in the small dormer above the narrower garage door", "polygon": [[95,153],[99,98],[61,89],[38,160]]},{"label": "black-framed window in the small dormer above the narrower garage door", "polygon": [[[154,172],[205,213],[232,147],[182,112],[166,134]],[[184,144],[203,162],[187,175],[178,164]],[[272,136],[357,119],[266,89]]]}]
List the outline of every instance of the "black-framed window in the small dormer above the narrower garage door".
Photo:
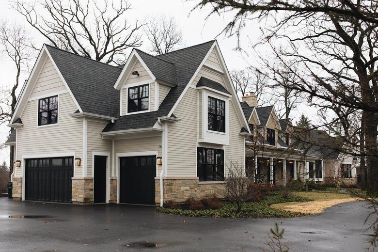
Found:
[{"label": "black-framed window in the small dormer above the narrower garage door", "polygon": [[127,112],[148,110],[148,84],[128,88]]}]

